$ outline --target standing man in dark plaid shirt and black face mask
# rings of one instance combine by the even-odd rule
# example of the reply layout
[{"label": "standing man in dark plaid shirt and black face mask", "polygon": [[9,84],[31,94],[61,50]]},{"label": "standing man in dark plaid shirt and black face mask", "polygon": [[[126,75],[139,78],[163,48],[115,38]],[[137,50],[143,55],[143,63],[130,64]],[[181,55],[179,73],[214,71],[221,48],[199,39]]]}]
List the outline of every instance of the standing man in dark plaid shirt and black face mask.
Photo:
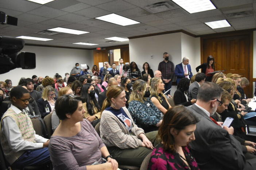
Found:
[{"label": "standing man in dark plaid shirt and black face mask", "polygon": [[[164,61],[160,62],[158,65],[158,70],[162,73],[162,80],[164,82],[164,90],[167,91],[171,88],[172,79],[174,77],[174,64],[169,61],[169,54],[167,52],[163,53]],[[167,95],[170,95],[169,90]]]}]

